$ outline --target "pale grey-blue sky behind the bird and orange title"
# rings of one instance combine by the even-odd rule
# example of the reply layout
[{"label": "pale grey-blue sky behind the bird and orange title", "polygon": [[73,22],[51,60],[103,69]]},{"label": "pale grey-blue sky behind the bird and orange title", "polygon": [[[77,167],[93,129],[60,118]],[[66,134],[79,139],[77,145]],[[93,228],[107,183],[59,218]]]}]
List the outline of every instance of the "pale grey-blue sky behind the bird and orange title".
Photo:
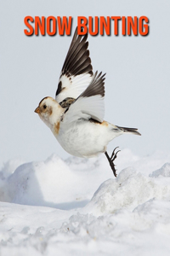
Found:
[{"label": "pale grey-blue sky behind the bird and orange title", "polygon": [[[59,73],[77,26],[77,16],[142,16],[150,20],[147,37],[88,36],[94,72],[106,73],[105,120],[137,127],[142,137],[117,137],[139,155],[169,151],[170,20],[169,1],[1,1],[0,3],[0,166],[14,158],[45,160],[70,155],[34,113],[44,96],[55,96]],[[27,15],[72,16],[71,37],[27,37]]]}]

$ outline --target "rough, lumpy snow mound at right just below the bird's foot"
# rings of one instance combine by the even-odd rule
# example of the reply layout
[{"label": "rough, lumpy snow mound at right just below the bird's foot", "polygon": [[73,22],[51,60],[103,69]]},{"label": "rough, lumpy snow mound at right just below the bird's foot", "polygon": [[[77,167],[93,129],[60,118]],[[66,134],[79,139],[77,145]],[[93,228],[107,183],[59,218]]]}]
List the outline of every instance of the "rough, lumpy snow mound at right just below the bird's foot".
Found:
[{"label": "rough, lumpy snow mound at right just below the bird's foot", "polygon": [[[162,166],[160,172],[164,169]],[[95,214],[114,213],[123,208],[133,210],[152,198],[170,199],[170,183],[156,183],[154,178],[145,177],[129,167],[122,170],[116,179],[102,183],[87,209],[88,212],[93,209]]]}]

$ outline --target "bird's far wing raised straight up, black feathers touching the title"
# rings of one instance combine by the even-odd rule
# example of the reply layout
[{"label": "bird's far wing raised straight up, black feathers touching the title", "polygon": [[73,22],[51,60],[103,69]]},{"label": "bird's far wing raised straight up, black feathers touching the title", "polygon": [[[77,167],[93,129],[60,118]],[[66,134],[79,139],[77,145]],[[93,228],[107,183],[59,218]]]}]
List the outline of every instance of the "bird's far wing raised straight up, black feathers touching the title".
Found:
[{"label": "bird's far wing raised straight up, black feathers touching the title", "polygon": [[93,78],[87,38],[88,34],[78,36],[76,29],[59,77],[55,95],[58,103],[67,97],[77,99]]}]

